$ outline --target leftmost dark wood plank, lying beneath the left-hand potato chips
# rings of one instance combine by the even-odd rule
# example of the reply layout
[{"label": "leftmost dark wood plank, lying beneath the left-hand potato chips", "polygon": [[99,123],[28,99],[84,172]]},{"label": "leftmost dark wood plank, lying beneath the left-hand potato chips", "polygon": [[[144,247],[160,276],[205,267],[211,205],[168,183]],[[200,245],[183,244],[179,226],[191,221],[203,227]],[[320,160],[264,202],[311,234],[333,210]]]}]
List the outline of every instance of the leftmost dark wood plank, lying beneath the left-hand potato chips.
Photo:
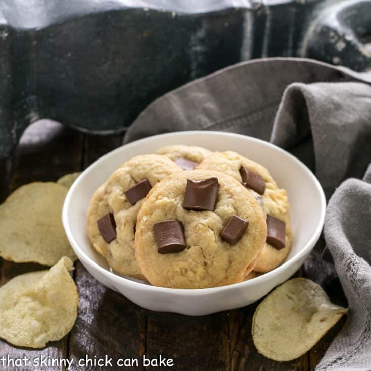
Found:
[{"label": "leftmost dark wood plank, lying beneath the left-hand potato chips", "polygon": [[[63,127],[60,123],[50,120],[40,120],[31,125],[23,134],[16,150],[13,172],[11,165],[5,165],[8,178],[12,173],[12,179],[7,182],[10,186],[2,188],[3,198],[6,193],[13,191],[19,186],[33,181],[54,181],[60,176],[80,169],[82,135],[72,129]],[[1,281],[4,284],[11,278],[26,272],[45,269],[47,267],[38,264],[16,264],[3,261],[1,266]],[[57,342],[49,343],[41,350],[31,350],[14,347],[0,340],[0,359],[9,356],[18,359],[26,356],[31,361],[21,367],[9,365],[8,370],[35,370],[32,359],[44,357],[46,360],[67,357],[68,335]],[[37,369],[58,370],[63,367],[41,365]]]}]

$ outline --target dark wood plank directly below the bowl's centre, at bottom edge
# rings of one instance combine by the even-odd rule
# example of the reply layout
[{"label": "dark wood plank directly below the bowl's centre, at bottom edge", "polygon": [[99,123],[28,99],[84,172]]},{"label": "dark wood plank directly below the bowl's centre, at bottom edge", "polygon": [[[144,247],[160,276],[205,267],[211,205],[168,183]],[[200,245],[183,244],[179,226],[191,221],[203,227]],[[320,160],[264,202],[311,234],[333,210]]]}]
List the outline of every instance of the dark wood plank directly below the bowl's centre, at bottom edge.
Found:
[{"label": "dark wood plank directly below the bowl's centre, at bottom edge", "polygon": [[174,360],[172,370],[228,370],[228,312],[188,317],[148,311],[146,356],[160,354]]}]

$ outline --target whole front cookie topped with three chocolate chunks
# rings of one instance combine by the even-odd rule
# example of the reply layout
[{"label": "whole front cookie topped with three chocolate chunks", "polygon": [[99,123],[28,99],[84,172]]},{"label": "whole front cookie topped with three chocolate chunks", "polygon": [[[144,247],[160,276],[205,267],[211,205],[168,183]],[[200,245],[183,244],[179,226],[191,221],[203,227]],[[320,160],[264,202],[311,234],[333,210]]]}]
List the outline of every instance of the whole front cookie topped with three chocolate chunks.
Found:
[{"label": "whole front cookie topped with three chocolate chunks", "polygon": [[229,285],[248,274],[266,234],[263,210],[240,182],[218,171],[186,170],[157,183],[143,201],[135,257],[155,286]]}]

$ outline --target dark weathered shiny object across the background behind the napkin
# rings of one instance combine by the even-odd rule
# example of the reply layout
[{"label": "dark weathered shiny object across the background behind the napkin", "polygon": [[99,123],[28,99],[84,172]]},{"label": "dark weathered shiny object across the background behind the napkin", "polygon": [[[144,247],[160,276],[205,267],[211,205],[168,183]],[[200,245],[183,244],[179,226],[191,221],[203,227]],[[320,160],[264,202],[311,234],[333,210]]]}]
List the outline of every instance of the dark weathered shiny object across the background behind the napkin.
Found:
[{"label": "dark weathered shiny object across the background behind the napkin", "polygon": [[51,118],[123,132],[158,96],[261,57],[371,68],[371,0],[2,0],[0,158]]}]

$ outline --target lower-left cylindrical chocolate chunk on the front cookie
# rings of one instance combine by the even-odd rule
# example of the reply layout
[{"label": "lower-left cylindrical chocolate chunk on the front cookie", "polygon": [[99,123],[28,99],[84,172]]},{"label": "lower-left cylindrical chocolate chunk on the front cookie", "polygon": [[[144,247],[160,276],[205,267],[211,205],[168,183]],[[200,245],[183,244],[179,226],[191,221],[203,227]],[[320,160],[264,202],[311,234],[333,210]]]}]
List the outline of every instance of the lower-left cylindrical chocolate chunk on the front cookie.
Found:
[{"label": "lower-left cylindrical chocolate chunk on the front cookie", "polygon": [[153,232],[160,254],[180,252],[186,247],[183,225],[178,220],[158,222]]}]

